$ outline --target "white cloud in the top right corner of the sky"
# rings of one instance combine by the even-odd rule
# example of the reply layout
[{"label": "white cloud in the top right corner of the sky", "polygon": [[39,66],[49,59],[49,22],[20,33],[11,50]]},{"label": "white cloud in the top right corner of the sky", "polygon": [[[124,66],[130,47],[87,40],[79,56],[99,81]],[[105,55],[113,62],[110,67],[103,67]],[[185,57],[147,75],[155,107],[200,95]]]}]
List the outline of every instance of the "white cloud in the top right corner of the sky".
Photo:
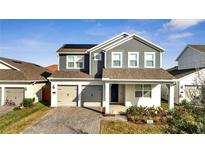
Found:
[{"label": "white cloud in the top right corner of the sky", "polygon": [[195,26],[201,22],[205,21],[204,19],[172,19],[168,23],[163,24],[163,28],[169,30],[184,30]]}]

